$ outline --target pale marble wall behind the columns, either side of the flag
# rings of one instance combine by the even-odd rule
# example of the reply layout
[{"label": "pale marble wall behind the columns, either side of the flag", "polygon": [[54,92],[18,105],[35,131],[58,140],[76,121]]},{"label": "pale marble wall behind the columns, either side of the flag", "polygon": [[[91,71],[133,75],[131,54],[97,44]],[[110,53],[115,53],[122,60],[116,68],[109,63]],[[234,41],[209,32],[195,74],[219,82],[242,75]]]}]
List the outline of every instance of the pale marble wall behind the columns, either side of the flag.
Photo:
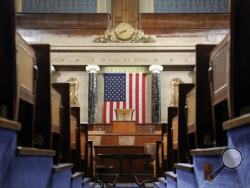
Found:
[{"label": "pale marble wall behind the columns, either side of the flag", "polygon": [[[180,78],[185,83],[193,82],[193,72],[190,71],[164,71],[161,73],[161,121],[167,121],[167,107],[170,103],[170,82],[173,78]],[[81,122],[88,121],[88,73],[82,71],[57,71],[52,76],[53,82],[66,82],[70,77],[75,77],[80,82],[79,102],[81,108]],[[146,122],[151,122],[151,79],[147,76],[147,101],[146,101]],[[98,107],[97,122],[102,122],[102,111],[104,104],[104,78],[102,74],[98,76]]]}]

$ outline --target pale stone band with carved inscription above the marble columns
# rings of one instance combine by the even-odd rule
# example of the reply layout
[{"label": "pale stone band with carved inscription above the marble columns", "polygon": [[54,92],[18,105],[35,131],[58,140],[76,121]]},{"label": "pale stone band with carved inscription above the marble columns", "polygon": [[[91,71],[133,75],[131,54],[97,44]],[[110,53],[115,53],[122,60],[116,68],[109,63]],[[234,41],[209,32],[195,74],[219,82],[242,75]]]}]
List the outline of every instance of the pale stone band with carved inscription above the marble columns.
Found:
[{"label": "pale stone band with carved inscription above the marble columns", "polygon": [[163,53],[51,53],[53,64],[75,65],[191,65],[195,64],[195,52]]}]

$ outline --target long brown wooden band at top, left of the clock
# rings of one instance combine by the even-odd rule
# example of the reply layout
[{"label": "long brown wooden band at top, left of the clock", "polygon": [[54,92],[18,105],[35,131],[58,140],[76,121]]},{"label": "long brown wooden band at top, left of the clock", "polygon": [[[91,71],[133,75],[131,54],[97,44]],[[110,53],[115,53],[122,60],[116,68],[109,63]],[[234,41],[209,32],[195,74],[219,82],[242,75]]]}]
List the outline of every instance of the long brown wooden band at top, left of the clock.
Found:
[{"label": "long brown wooden band at top, left of the clock", "polygon": [[25,13],[16,14],[22,29],[106,29],[108,13]]}]

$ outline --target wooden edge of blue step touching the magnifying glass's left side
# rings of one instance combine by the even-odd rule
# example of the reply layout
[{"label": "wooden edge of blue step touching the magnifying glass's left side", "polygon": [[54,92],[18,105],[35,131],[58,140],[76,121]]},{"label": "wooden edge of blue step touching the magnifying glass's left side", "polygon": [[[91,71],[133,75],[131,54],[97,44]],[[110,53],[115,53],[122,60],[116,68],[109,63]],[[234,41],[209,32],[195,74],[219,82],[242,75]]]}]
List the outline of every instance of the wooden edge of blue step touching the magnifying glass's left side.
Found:
[{"label": "wooden edge of blue step touching the magnifying glass's left side", "polygon": [[221,155],[226,147],[206,148],[206,149],[193,149],[190,150],[192,156],[212,156]]}]

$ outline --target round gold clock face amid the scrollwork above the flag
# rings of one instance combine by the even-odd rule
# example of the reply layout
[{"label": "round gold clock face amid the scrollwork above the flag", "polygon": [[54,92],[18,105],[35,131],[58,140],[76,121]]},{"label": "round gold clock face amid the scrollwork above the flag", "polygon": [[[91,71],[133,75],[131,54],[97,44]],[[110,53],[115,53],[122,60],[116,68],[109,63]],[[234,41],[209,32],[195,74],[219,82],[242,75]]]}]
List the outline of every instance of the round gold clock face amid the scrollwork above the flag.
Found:
[{"label": "round gold clock face amid the scrollwork above the flag", "polygon": [[115,27],[115,34],[118,39],[126,41],[132,38],[134,34],[134,28],[128,23],[120,23]]}]

